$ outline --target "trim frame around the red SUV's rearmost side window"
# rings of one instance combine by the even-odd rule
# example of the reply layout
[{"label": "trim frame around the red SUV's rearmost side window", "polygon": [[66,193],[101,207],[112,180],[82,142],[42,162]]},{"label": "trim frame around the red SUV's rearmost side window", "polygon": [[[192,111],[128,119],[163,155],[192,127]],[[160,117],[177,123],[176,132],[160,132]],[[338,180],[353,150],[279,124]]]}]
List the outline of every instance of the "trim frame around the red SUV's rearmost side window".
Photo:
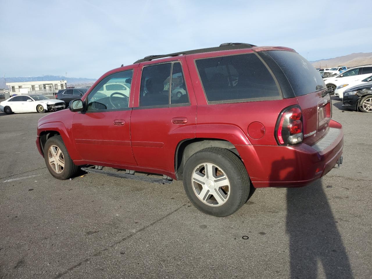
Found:
[{"label": "trim frame around the red SUV's rearmost side window", "polygon": [[[233,56],[233,55],[246,55],[246,54],[254,54],[254,55],[256,55],[259,58],[259,60],[262,62],[262,64],[269,71],[270,75],[273,77],[273,79],[275,81],[275,84],[276,84],[276,87],[278,87],[279,96],[277,98],[275,98],[275,97],[261,97],[261,98],[248,98],[248,99],[209,101],[208,100],[208,97],[207,97],[207,95],[205,93],[205,89],[204,89],[204,85],[203,85],[202,79],[200,77],[199,69],[196,66],[196,61],[197,60],[201,60],[201,59],[210,59],[210,58],[217,58],[217,57],[226,57],[226,56]],[[211,56],[211,57],[196,58],[196,59],[194,59],[194,66],[195,66],[195,69],[196,69],[196,73],[198,73],[198,78],[199,78],[200,84],[201,84],[202,89],[203,89],[205,100],[207,101],[207,104],[208,105],[231,104],[231,103],[247,103],[247,102],[259,102],[259,101],[269,101],[269,100],[281,100],[281,99],[283,99],[282,89],[280,88],[279,82],[276,79],[274,73],[272,72],[272,70],[270,69],[270,67],[266,64],[266,62],[260,57],[260,55],[258,55],[254,51],[252,51],[252,52],[243,52],[243,53],[234,53],[234,54],[225,54],[225,55],[217,55],[217,56]]]}]

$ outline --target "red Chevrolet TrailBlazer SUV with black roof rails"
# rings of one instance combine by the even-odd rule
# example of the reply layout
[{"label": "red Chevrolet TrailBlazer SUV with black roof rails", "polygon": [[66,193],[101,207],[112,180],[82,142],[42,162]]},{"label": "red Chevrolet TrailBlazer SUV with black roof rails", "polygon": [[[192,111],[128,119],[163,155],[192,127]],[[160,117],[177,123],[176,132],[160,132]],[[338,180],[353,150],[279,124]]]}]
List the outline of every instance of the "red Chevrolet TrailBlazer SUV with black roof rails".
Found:
[{"label": "red Chevrolet TrailBlazer SUV with black roof rails", "polygon": [[109,71],[39,120],[36,145],[57,179],[92,165],[183,180],[196,208],[222,217],[250,185],[304,186],[339,166],[343,131],[331,114],[323,79],[294,49],[227,43]]}]

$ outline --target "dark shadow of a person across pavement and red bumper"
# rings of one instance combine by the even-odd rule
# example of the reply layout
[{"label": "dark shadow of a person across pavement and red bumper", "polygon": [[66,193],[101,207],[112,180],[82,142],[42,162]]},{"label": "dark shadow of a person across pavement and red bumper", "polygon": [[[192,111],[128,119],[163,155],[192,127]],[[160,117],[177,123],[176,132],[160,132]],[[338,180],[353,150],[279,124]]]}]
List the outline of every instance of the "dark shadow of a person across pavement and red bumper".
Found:
[{"label": "dark shadow of a person across pavement and red bumper", "polygon": [[[272,170],[280,173],[283,166],[294,166],[295,163],[295,160],[279,160],[273,163]],[[294,168],[285,169],[281,181],[288,181],[294,171]],[[277,174],[273,176],[278,179]],[[318,266],[323,267],[325,278],[353,278],[349,257],[321,179],[305,187],[288,188],[286,201],[290,278],[315,279]]]}]

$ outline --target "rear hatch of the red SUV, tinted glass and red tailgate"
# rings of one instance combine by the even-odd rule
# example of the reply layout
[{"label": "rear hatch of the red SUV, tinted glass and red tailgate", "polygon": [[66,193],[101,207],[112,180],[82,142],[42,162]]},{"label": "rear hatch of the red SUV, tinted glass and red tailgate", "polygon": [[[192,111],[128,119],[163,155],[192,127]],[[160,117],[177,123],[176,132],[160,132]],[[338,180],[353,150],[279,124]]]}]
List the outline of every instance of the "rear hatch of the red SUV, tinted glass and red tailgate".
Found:
[{"label": "rear hatch of the red SUV, tinted glass and red tailgate", "polygon": [[[304,57],[293,51],[270,50],[265,51],[282,70],[286,80],[279,83],[289,83],[293,92],[283,92],[284,97],[295,97],[302,110],[303,142],[313,145],[328,132],[331,121],[332,106],[327,87],[319,72]],[[278,69],[274,70],[277,76]],[[278,73],[279,74],[279,73]]]}]

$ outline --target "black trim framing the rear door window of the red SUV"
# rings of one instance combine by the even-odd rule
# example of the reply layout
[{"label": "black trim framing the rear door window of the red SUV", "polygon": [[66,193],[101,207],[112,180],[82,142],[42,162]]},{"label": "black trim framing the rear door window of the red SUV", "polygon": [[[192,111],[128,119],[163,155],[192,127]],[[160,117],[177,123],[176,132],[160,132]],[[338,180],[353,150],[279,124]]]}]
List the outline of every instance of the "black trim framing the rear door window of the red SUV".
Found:
[{"label": "black trim framing the rear door window of the red SUV", "polygon": [[[184,80],[184,83],[185,83],[185,86],[186,86],[186,94],[187,94],[187,97],[188,97],[188,99],[189,99],[189,102],[188,102],[188,103],[182,103],[182,104],[171,104],[171,103],[170,103],[170,98],[171,98],[171,87],[172,87],[172,76],[173,76],[173,64],[174,64],[174,63],[180,63],[180,65],[181,65],[182,76],[183,76],[183,80]],[[143,71],[143,69],[144,69],[145,67],[155,66],[155,65],[161,65],[161,64],[171,64],[171,66],[170,66],[169,92],[168,92],[168,95],[169,95],[168,105],[141,106],[141,103],[140,103],[141,100],[140,100],[140,99],[141,99],[142,71]],[[174,108],[174,107],[179,107],[179,106],[191,106],[190,94],[189,94],[189,90],[187,90],[185,74],[184,74],[184,72],[183,72],[182,62],[181,62],[180,60],[172,60],[172,61],[166,61],[166,62],[160,62],[160,63],[154,63],[154,64],[144,65],[144,66],[142,66],[142,68],[141,68],[141,70],[139,71],[138,74],[141,74],[141,80],[140,80],[140,91],[139,91],[139,94],[138,94],[138,107],[133,108],[134,110],[138,110],[138,109]]]}]

